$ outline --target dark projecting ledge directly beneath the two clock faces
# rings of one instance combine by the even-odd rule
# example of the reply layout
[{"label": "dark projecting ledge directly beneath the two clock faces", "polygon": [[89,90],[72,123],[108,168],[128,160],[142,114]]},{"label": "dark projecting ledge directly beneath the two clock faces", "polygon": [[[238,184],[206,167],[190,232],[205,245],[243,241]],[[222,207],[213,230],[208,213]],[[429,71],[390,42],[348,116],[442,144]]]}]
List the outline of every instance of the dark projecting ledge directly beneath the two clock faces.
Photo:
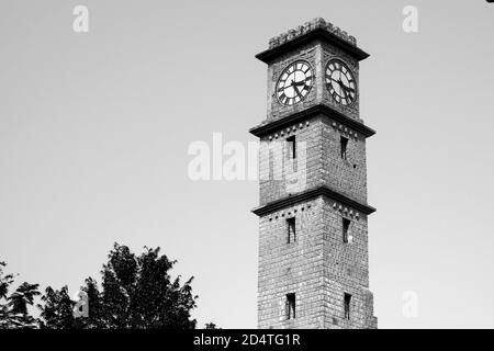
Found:
[{"label": "dark projecting ledge directly beneath the two clock faces", "polygon": [[[308,107],[306,110],[303,110],[301,112],[291,114],[287,117],[268,122],[265,124],[260,124],[254,128],[250,128],[250,134],[254,134],[257,137],[262,137],[265,135],[269,135],[271,133],[276,133],[280,131],[281,128],[287,128],[288,126],[293,126],[294,124],[299,122],[306,121],[307,118],[316,115],[324,115],[332,121],[335,121],[332,123],[333,127],[337,128],[345,128],[345,126],[348,126],[349,128],[353,129],[355,137],[358,136],[358,134],[363,135],[364,137],[370,137],[375,134],[375,131],[372,128],[369,128],[363,123],[357,122],[352,118],[347,117],[343,113],[333,110],[332,107],[328,107],[324,104],[314,105],[312,107]],[[339,124],[336,124],[338,122]],[[306,122],[304,122],[306,123]]]}]

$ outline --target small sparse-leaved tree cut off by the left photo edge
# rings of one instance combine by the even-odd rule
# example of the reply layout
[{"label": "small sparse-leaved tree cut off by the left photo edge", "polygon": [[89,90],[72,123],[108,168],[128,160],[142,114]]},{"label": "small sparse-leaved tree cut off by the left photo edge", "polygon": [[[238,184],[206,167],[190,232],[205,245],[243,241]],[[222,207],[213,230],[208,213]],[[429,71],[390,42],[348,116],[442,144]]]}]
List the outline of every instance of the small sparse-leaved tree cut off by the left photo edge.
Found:
[{"label": "small sparse-leaved tree cut off by the left photo edge", "polygon": [[24,282],[8,295],[9,287],[14,282],[14,275],[4,275],[5,265],[5,262],[0,262],[0,329],[36,328],[38,320],[30,315],[27,307],[32,306],[34,297],[41,294],[40,284]]}]

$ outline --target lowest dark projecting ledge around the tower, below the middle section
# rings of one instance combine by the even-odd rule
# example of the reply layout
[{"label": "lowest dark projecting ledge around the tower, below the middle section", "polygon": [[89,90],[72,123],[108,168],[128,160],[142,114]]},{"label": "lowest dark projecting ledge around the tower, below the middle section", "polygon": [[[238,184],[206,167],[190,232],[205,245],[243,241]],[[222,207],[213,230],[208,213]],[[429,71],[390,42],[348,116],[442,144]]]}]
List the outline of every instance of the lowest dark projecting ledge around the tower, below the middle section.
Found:
[{"label": "lowest dark projecting ledge around the tower, below the middle section", "polygon": [[356,211],[359,211],[366,215],[370,215],[371,213],[375,212],[374,207],[369,206],[367,204],[359,203],[344,194],[340,194],[334,190],[330,190],[327,186],[319,186],[319,188],[312,189],[312,190],[305,191],[305,192],[296,194],[296,195],[289,195],[284,199],[280,199],[280,200],[270,202],[269,204],[267,204],[265,206],[254,208],[252,212],[258,216],[263,216],[263,215],[270,214],[274,211],[278,211],[278,210],[281,210],[284,207],[289,207],[296,203],[312,200],[312,199],[315,199],[318,196],[329,197],[334,201],[341,203],[344,206],[355,208]]}]

